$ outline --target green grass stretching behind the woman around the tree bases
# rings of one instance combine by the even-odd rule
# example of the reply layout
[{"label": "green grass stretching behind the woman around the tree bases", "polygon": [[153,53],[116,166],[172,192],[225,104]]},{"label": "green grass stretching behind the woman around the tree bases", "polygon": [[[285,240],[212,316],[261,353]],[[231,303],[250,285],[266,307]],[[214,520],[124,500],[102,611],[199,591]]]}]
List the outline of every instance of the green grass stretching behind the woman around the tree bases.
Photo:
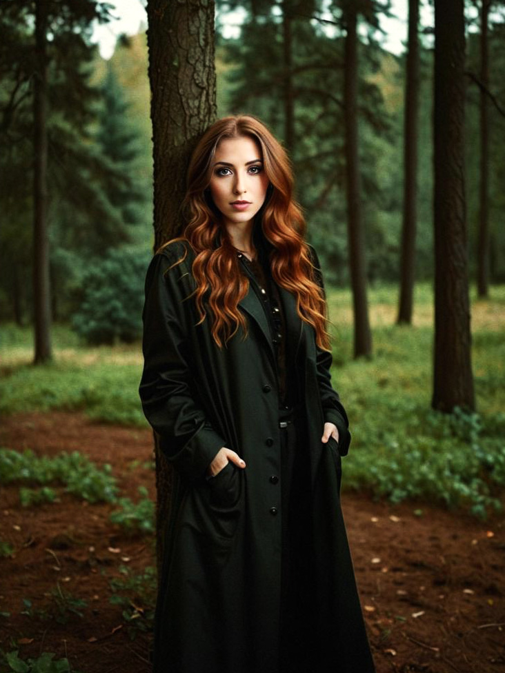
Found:
[{"label": "green grass stretching behind the woman around the tree bases", "polygon": [[[473,371],[479,415],[430,410],[433,292],[415,292],[413,325],[395,325],[397,290],[370,290],[373,359],[354,361],[348,290],[328,290],[333,383],[348,410],[353,444],[344,488],[393,501],[430,499],[470,508],[499,508],[505,484],[505,285],[491,297],[472,293]],[[33,368],[28,330],[3,328],[0,413],[83,410],[98,421],[146,425],[137,388],[138,344],[83,348],[68,329],[54,334],[55,363]]]}]

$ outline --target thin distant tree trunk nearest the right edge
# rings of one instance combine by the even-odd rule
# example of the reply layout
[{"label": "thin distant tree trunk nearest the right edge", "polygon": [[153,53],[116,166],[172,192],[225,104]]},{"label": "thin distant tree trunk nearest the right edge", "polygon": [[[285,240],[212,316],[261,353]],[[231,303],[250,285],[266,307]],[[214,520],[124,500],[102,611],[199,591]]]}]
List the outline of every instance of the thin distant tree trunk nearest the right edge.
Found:
[{"label": "thin distant tree trunk nearest the right edge", "polygon": [[[488,97],[488,17],[490,0],[481,0],[480,10],[480,194],[479,194],[479,252],[477,259],[477,292],[479,297],[487,297],[489,281],[489,223],[488,223],[488,183],[489,183],[489,127]],[[484,87],[486,90],[484,90]]]}]

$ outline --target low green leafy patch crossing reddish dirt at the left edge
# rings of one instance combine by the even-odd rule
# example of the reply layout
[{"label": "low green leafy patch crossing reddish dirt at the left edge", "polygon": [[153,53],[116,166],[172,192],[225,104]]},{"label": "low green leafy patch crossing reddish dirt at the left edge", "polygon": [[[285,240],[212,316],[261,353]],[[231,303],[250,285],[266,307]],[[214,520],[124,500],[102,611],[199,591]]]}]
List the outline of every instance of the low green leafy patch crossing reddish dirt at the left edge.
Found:
[{"label": "low green leafy patch crossing reddish dirt at the left edge", "polygon": [[[50,458],[37,456],[30,450],[22,453],[10,449],[0,449],[0,481],[36,482],[41,484],[61,483],[66,486],[66,492],[71,493],[90,503],[115,502],[117,485],[111,474],[110,465],[97,466],[87,456],[75,451],[71,454],[62,452]],[[28,491],[28,492],[27,492]],[[32,501],[51,501],[52,489],[42,489],[44,492],[30,492],[24,490],[21,495],[23,505]],[[53,493],[54,494],[54,493]]]}]

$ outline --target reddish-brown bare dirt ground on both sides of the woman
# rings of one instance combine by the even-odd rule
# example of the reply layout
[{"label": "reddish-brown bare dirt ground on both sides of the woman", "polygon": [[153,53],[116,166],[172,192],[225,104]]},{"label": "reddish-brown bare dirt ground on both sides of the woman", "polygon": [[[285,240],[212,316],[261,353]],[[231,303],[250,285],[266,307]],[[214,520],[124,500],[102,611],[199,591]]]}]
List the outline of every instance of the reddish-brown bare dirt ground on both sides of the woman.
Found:
[{"label": "reddish-brown bare dirt ground on both sides of the woman", "polygon": [[[149,430],[77,413],[14,414],[2,420],[0,446],[43,456],[79,451],[109,463],[122,494],[135,500],[143,485],[155,497]],[[0,537],[14,548],[0,559],[0,647],[23,658],[56,652],[81,673],[148,672],[146,605],[135,603],[143,596],[123,612],[110,603],[110,582],[135,583],[155,565],[152,535],[111,523],[117,505],[60,497],[22,508],[19,485],[0,492]],[[482,522],[348,491],[342,503],[377,673],[505,671],[503,516]]]}]

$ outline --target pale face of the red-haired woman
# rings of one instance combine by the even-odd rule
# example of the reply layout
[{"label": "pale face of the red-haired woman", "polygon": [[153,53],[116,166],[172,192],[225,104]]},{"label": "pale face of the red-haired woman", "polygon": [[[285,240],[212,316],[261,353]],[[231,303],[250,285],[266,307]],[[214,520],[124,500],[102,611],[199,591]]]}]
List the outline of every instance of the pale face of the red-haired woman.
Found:
[{"label": "pale face of the red-haired woman", "polygon": [[221,140],[209,187],[228,231],[252,223],[268,188],[259,143],[248,136]]}]

